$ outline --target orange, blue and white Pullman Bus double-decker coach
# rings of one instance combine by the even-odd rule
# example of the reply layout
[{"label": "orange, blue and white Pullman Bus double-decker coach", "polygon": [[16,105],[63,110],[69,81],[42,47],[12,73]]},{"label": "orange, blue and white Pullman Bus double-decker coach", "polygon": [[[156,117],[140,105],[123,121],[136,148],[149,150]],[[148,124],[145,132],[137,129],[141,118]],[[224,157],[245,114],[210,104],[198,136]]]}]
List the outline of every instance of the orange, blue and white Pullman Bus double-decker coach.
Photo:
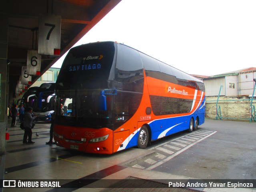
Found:
[{"label": "orange, blue and white Pullman Bus double-decker coach", "polygon": [[[69,116],[60,104],[69,100]],[[70,49],[56,80],[58,146],[112,154],[204,123],[204,83],[117,42]]]}]

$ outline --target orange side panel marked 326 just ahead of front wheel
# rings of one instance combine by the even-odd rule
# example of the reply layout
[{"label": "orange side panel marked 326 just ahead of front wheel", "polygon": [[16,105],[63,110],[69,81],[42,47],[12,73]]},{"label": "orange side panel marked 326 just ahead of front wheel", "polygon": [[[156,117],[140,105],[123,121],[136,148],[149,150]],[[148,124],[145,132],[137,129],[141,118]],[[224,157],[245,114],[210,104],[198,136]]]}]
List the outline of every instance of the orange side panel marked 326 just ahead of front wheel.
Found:
[{"label": "orange side panel marked 326 just ahead of front wheel", "polygon": [[114,133],[113,152],[123,150],[128,147],[129,130]]}]

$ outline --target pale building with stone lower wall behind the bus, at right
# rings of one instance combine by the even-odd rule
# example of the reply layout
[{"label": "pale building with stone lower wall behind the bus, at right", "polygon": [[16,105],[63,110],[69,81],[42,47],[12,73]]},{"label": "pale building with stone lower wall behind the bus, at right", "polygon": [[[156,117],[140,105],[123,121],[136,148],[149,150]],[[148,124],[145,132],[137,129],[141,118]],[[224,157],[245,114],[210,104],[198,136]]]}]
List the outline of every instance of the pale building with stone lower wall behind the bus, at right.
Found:
[{"label": "pale building with stone lower wall behind the bus, at right", "polygon": [[193,76],[204,81],[207,118],[254,121],[255,67],[214,76]]}]

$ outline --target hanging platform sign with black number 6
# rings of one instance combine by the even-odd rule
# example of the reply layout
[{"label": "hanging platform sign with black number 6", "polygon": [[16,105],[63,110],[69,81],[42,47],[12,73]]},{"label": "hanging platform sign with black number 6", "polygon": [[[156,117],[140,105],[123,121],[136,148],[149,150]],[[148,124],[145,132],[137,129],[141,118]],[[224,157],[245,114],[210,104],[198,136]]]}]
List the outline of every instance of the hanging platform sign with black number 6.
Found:
[{"label": "hanging platform sign with black number 6", "polygon": [[28,75],[40,75],[41,69],[41,55],[37,50],[28,50],[27,56],[27,74]]}]

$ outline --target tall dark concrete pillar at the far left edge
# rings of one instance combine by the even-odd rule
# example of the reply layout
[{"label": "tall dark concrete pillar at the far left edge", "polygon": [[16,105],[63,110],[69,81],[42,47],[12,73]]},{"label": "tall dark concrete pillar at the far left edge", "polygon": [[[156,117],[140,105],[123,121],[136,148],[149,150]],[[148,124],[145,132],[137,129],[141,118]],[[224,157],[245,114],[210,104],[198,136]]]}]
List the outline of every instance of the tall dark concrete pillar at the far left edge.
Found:
[{"label": "tall dark concrete pillar at the far left edge", "polygon": [[0,155],[6,152],[5,134],[7,132],[8,117],[8,79],[7,48],[8,48],[8,16],[0,14]]}]

